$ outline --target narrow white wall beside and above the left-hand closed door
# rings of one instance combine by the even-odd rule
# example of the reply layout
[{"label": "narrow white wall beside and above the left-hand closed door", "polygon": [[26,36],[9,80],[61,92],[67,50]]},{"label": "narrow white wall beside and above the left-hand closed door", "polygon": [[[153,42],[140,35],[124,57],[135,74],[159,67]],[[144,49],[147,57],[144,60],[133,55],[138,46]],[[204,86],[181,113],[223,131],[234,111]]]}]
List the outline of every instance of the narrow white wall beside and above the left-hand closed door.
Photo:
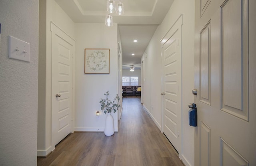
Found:
[{"label": "narrow white wall beside and above the left-hand closed door", "polygon": [[52,32],[53,22],[71,38],[75,38],[74,22],[55,0],[40,0],[39,79],[38,79],[38,156],[46,156],[52,146]]}]

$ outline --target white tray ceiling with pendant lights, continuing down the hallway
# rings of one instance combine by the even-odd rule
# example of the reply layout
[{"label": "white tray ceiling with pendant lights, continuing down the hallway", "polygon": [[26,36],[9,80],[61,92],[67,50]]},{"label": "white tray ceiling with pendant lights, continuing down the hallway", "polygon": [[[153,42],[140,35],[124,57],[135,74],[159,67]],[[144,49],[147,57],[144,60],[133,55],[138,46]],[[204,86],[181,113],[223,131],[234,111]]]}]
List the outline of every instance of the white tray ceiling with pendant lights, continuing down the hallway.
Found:
[{"label": "white tray ceiling with pendant lights, continuing down the hallway", "polygon": [[[174,0],[121,0],[124,15],[113,16],[118,24],[122,51],[123,69],[134,65],[140,68],[140,58],[161,24]],[[107,0],[56,0],[75,23],[105,23]],[[119,0],[115,0],[116,4]],[[133,40],[138,40],[134,43]],[[135,55],[131,55],[134,53]]]}]

